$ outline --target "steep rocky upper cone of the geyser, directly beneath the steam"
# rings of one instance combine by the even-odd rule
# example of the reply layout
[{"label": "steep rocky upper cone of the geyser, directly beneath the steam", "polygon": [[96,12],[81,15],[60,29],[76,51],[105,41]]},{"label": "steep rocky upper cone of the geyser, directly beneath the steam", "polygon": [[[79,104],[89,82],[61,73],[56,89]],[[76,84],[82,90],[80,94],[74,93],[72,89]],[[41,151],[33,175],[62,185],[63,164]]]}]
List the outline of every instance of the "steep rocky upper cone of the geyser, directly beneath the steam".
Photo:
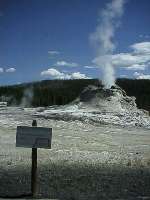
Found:
[{"label": "steep rocky upper cone of the geyser, directly beneath the steam", "polygon": [[104,87],[88,86],[76,100],[79,107],[92,107],[98,111],[121,112],[136,110],[135,97],[129,97],[119,86]]}]

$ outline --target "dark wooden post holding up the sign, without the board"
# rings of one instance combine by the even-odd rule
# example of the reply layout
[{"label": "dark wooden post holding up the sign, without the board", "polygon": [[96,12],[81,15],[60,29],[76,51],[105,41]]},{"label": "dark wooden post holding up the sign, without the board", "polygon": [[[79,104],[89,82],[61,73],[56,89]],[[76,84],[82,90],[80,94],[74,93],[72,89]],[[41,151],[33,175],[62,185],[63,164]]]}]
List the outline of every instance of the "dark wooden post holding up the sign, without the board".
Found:
[{"label": "dark wooden post holding up the sign, without the board", "polygon": [[[37,126],[36,120],[33,120],[32,126]],[[31,192],[32,197],[35,198],[37,195],[37,148],[32,148]]]}]

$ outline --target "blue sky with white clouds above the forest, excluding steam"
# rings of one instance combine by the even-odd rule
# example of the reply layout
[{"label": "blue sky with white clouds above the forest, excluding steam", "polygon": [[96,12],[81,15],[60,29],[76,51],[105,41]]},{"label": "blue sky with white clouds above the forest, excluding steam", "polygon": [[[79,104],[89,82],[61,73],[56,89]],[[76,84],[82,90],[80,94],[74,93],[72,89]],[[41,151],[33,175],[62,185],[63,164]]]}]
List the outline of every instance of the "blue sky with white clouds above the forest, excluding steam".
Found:
[{"label": "blue sky with white clouds above the forest, excluding steam", "polygon": [[[149,78],[150,1],[126,1],[113,37],[115,77]],[[90,35],[109,2],[0,0],[0,85],[101,78],[101,70],[93,63],[97,53]],[[128,59],[131,62],[126,65]]]}]

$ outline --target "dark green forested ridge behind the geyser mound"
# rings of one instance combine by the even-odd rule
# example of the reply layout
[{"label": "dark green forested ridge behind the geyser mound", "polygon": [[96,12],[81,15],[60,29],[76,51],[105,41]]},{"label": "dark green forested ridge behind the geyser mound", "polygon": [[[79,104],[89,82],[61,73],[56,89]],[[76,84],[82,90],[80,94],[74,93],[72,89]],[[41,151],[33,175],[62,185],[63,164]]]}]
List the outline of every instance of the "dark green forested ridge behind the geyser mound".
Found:
[{"label": "dark green forested ridge behind the geyser mound", "polygon": [[[139,108],[150,111],[150,80],[117,79],[116,84],[129,96],[136,97]],[[88,85],[102,86],[97,79],[44,80],[0,87],[0,101],[16,106],[64,105],[75,98]]]}]

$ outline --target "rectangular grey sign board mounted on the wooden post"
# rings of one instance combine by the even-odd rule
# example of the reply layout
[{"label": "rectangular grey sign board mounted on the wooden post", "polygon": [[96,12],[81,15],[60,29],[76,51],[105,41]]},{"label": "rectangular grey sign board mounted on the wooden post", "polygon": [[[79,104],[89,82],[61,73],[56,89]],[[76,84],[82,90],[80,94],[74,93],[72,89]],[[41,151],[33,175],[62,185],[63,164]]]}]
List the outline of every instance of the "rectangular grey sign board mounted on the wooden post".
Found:
[{"label": "rectangular grey sign board mounted on the wooden post", "polygon": [[18,126],[16,147],[51,148],[52,129],[43,127]]}]

